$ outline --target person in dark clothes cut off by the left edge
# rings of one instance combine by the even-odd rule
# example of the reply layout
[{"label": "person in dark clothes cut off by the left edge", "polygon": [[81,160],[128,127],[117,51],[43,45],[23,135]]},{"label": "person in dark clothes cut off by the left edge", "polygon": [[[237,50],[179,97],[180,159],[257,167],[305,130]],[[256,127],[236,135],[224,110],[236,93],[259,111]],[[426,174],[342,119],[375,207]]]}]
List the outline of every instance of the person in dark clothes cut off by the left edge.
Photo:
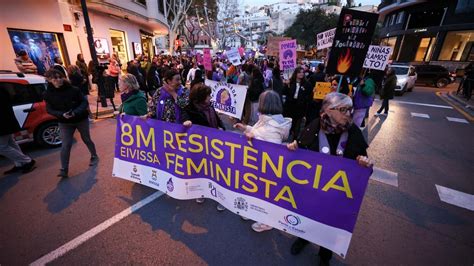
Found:
[{"label": "person in dark clothes cut off by the left edge", "polygon": [[0,155],[14,162],[13,168],[4,172],[8,175],[22,171],[28,173],[34,169],[35,160],[25,155],[13,139],[13,133],[20,131],[20,125],[13,113],[10,95],[0,90]]}]

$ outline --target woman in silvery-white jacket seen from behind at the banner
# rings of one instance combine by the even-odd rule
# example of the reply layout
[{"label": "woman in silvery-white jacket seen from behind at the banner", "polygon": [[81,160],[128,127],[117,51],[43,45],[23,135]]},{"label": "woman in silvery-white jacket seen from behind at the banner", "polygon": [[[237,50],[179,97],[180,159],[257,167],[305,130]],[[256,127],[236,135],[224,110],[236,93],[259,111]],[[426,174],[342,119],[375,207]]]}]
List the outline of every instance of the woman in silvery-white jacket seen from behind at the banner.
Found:
[{"label": "woman in silvery-white jacket seen from behind at the banner", "polygon": [[[291,118],[282,115],[283,107],[280,95],[273,90],[263,92],[258,99],[258,112],[260,116],[254,126],[237,123],[234,127],[244,131],[247,138],[256,138],[276,144],[283,143],[290,134]],[[255,222],[252,224],[252,229],[260,233],[271,230],[272,227]]]}]

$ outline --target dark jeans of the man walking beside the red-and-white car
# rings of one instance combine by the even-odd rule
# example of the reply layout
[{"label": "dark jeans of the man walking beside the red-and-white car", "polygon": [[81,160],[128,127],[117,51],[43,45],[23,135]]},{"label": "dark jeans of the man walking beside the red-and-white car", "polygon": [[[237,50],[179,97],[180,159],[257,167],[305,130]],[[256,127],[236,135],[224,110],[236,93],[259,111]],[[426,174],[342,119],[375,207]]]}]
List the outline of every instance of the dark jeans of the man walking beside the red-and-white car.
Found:
[{"label": "dark jeans of the man walking beside the red-and-white car", "polygon": [[97,156],[94,142],[92,142],[89,131],[89,120],[83,119],[77,123],[59,123],[61,131],[61,168],[67,170],[69,168],[69,157],[71,155],[72,140],[76,129],[81,134],[81,139],[86,144],[91,156]]}]

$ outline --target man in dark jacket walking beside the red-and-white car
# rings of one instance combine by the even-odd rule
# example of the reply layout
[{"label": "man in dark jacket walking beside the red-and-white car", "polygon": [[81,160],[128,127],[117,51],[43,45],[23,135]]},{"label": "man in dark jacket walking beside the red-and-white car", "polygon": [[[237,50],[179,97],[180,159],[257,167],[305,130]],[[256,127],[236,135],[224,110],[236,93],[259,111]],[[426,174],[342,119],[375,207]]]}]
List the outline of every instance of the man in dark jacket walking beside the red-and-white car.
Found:
[{"label": "man in dark jacket walking beside the red-and-white car", "polygon": [[61,169],[58,176],[66,178],[68,177],[69,157],[76,129],[91,153],[89,166],[94,166],[99,161],[89,132],[89,120],[87,119],[89,103],[78,88],[71,86],[62,72],[50,69],[46,72],[45,77],[49,82],[48,90],[44,95],[46,111],[59,120],[63,142],[61,146]]}]

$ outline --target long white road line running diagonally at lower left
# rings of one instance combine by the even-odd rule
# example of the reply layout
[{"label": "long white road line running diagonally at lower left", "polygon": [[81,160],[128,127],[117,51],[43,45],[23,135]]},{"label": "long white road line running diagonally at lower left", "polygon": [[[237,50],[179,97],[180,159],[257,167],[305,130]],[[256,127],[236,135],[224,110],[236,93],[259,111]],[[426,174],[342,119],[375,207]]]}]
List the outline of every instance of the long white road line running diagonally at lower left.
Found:
[{"label": "long white road line running diagonally at lower left", "polygon": [[141,201],[135,203],[134,205],[128,207],[127,209],[121,211],[120,213],[116,214],[112,218],[108,219],[107,221],[97,225],[96,227],[90,229],[89,231],[83,233],[82,235],[74,238],[73,240],[69,241],[68,243],[60,246],[56,250],[44,255],[43,257],[37,259],[36,261],[32,262],[30,265],[45,265],[46,263],[50,263],[59,257],[63,256],[64,254],[68,253],[69,251],[77,248],[82,243],[86,242],[87,240],[91,239],[92,237],[98,235],[102,231],[106,230],[110,226],[118,223],[123,218],[129,216],[130,214],[138,211],[143,206],[149,204],[150,202],[156,200],[160,196],[163,195],[163,192],[157,191],[150,196],[142,199]]}]

